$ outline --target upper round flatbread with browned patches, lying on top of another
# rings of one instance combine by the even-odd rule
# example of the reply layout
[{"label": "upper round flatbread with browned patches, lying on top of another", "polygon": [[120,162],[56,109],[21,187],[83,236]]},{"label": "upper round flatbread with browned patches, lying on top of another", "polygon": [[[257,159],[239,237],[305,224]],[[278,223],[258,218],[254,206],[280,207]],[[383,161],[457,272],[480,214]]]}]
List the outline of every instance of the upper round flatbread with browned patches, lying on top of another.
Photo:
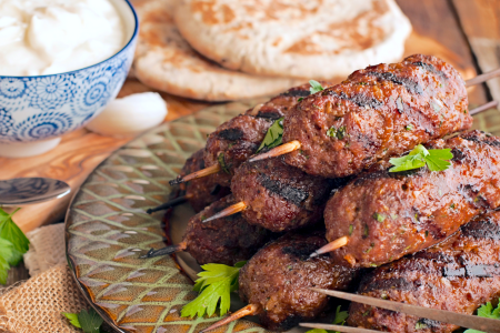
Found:
[{"label": "upper round flatbread with browned patches, lying on top of another", "polygon": [[317,80],[400,60],[411,32],[393,0],[180,0],[176,22],[228,69]]}]

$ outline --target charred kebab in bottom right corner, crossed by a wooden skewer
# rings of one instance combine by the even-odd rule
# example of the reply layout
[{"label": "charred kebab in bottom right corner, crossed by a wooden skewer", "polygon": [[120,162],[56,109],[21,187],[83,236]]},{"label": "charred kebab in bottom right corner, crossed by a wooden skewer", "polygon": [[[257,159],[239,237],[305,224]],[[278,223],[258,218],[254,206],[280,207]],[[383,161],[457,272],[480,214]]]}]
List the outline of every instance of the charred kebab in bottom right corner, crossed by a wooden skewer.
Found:
[{"label": "charred kebab in bottom right corner, crossed by a wooden skewer", "polygon": [[[500,212],[476,218],[441,244],[378,268],[359,293],[472,314],[500,296]],[[348,323],[386,332],[448,333],[459,326],[352,303]]]}]

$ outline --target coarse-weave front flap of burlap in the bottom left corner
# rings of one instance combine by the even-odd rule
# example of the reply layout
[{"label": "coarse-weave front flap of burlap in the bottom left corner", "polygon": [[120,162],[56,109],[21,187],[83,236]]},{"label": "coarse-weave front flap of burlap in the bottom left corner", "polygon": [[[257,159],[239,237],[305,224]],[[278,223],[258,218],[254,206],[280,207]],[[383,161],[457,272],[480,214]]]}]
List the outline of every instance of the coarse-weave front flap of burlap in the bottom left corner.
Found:
[{"label": "coarse-weave front flap of burlap in the bottom left corner", "polygon": [[60,264],[0,296],[0,333],[81,333],[61,312],[88,306],[67,264]]}]

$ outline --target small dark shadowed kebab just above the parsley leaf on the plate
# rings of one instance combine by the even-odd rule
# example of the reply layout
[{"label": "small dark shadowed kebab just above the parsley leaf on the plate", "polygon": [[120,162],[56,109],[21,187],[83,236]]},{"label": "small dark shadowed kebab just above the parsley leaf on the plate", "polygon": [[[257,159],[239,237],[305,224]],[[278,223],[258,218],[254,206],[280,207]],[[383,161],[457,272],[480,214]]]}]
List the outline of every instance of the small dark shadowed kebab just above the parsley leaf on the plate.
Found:
[{"label": "small dark shadowed kebab just above the parsley leaf on the plate", "polygon": [[221,263],[233,265],[250,259],[266,242],[271,233],[266,229],[248,224],[241,214],[203,223],[207,218],[234,203],[228,195],[191,218],[183,242],[187,251],[199,264]]}]

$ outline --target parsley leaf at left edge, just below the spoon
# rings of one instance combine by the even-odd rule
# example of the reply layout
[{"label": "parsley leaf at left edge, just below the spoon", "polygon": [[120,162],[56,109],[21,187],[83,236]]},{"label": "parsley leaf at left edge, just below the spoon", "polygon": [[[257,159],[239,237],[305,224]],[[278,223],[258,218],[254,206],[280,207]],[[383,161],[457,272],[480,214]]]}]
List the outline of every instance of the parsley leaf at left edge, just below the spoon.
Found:
[{"label": "parsley leaf at left edge, just below the spoon", "polygon": [[12,221],[12,215],[19,211],[17,209],[12,214],[8,214],[0,208],[0,239],[12,243],[14,252],[9,260],[10,265],[17,265],[22,260],[22,254],[28,252],[30,241],[24,233]]}]

